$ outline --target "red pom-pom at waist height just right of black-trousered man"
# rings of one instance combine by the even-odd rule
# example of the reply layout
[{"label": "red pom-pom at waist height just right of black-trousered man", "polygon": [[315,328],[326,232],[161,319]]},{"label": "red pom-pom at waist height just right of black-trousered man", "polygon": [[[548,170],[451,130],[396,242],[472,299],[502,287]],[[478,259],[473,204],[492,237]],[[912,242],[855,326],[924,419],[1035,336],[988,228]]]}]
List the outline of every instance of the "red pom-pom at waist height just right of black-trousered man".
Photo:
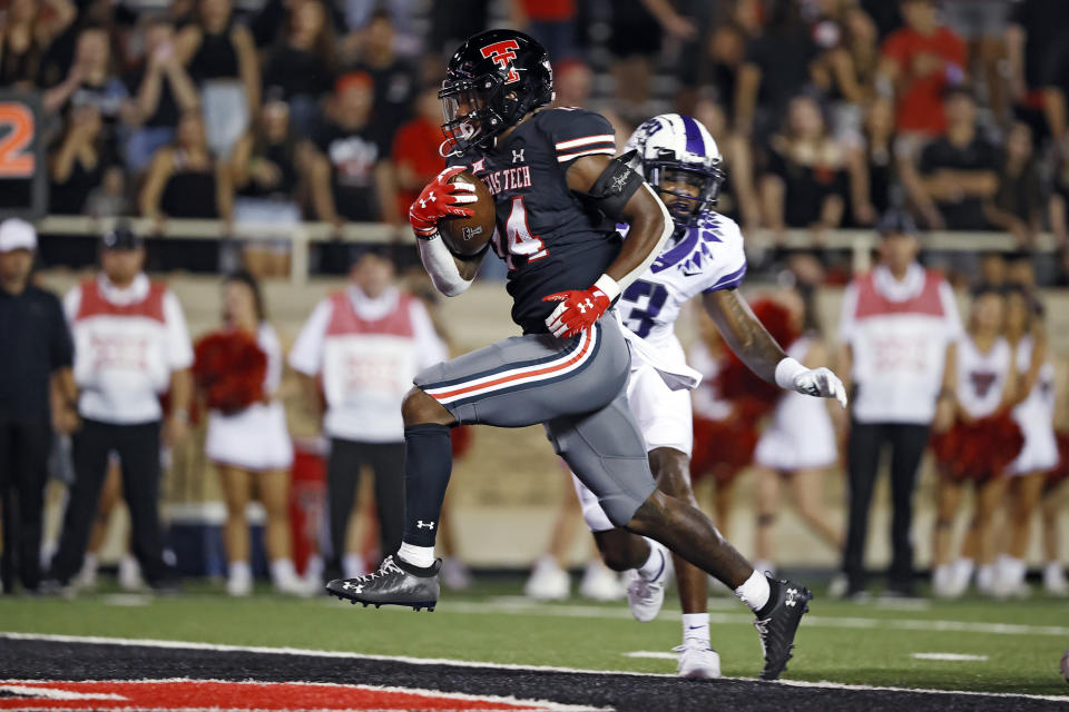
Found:
[{"label": "red pom-pom at waist height just right of black-trousered man", "polygon": [[957,423],[931,442],[943,474],[955,482],[1001,476],[1020,454],[1024,436],[1009,412],[972,423]]}]

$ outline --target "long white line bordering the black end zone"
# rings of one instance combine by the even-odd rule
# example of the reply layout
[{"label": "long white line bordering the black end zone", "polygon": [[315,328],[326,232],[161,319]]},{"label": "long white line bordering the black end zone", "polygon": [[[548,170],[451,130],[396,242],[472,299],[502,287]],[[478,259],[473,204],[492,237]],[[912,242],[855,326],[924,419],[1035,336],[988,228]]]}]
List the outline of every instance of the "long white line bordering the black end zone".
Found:
[{"label": "long white line bordering the black end zone", "polygon": [[[514,670],[523,672],[566,672],[583,675],[628,675],[638,678],[675,678],[661,673],[640,673],[617,670],[583,670],[579,668],[558,668],[551,665],[517,665],[508,663],[474,662],[470,660],[451,660],[448,657],[410,657],[408,655],[367,655],[330,650],[304,650],[300,647],[262,647],[254,645],[219,645],[214,643],[192,643],[188,641],[159,641],[150,639],[101,637],[96,635],[49,635],[38,633],[6,633],[0,631],[0,640],[49,641],[55,643],[88,643],[96,645],[128,645],[133,647],[163,647],[170,650],[208,650],[224,652],[267,653],[274,655],[310,655],[314,657],[336,657],[347,660],[376,660],[385,662],[401,662],[415,665],[453,665],[458,668],[482,668],[489,670]],[[724,678],[739,682],[758,682],[753,678]],[[792,688],[816,688],[823,690],[863,690],[884,692],[913,692],[923,694],[963,694],[978,698],[1009,698],[1027,700],[1048,700],[1051,702],[1069,702],[1069,695],[1039,695],[1014,692],[974,692],[968,690],[931,690],[915,688],[884,688],[879,685],[857,685],[841,682],[807,682],[801,680],[779,680],[764,684],[782,684]]]}]

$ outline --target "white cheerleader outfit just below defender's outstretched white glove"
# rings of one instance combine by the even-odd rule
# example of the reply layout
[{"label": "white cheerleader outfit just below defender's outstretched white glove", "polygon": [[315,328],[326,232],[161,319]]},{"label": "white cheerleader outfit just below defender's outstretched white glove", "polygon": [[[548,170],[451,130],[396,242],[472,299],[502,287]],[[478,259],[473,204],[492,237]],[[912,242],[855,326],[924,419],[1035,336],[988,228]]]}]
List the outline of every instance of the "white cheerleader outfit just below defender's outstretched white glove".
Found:
[{"label": "white cheerleader outfit just below defender's outstretched white glove", "polygon": [[[813,339],[803,336],[787,348],[787,356],[805,363],[812,345]],[[754,459],[764,467],[787,472],[834,465],[835,428],[824,400],[793,390],[784,393],[757,442]]]}]

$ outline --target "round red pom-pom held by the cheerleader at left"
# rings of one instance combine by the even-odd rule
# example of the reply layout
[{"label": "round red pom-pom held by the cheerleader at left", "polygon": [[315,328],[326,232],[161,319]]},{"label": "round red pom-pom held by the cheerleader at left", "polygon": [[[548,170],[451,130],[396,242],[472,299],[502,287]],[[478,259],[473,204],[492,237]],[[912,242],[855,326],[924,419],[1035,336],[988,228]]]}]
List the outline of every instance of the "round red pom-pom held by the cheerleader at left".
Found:
[{"label": "round red pom-pom held by the cheerleader at left", "polygon": [[194,347],[193,377],[208,408],[237,413],[263,400],[267,356],[245,332],[214,332]]}]

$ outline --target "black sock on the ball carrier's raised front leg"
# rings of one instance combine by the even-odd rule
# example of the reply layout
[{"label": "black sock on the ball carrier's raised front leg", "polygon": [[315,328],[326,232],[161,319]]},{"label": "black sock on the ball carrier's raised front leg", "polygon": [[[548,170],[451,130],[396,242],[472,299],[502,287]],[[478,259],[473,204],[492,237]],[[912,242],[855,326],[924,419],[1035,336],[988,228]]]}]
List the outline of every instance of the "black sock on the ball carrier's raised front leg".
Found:
[{"label": "black sock on the ball carrier's raised front leg", "polygon": [[404,428],[404,542],[434,546],[438,517],[453,468],[449,427],[437,423]]}]

